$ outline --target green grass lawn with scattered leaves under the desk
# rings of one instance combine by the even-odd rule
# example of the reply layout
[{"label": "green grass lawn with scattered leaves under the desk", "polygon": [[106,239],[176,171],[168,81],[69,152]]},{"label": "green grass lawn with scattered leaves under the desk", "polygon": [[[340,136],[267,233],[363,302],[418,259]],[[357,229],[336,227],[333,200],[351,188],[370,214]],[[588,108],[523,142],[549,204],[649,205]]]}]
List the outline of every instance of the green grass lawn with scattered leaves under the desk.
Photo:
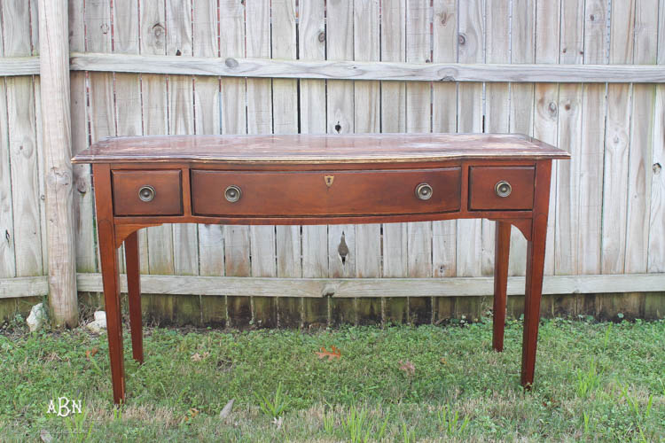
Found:
[{"label": "green grass lawn with scattered leaves under the desk", "polygon": [[[544,321],[531,392],[519,386],[521,330],[507,325],[499,354],[489,323],[155,328],[141,366],[126,331],[128,400],[118,409],[106,335],[4,329],[0,440],[665,441],[664,321]],[[322,346],[341,358],[318,359]],[[83,413],[47,414],[59,396],[82,400]]]}]

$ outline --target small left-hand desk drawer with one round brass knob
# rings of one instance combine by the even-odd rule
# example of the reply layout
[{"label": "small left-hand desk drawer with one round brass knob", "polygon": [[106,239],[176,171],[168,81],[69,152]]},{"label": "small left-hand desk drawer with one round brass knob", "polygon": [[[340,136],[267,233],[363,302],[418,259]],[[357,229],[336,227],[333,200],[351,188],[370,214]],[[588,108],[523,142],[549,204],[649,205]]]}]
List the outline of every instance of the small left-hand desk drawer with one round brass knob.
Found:
[{"label": "small left-hand desk drawer with one round brass knob", "polygon": [[112,171],[113,214],[182,215],[182,172]]}]

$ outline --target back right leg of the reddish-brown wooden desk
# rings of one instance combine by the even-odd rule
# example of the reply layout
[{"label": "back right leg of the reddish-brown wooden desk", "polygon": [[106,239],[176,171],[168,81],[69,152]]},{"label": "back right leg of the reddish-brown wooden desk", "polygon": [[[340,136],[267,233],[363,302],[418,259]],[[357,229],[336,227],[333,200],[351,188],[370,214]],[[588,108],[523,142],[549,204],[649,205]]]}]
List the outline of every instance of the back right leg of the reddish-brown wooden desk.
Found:
[{"label": "back right leg of the reddish-brown wooden desk", "polygon": [[508,286],[508,258],[511,247],[511,224],[497,221],[494,247],[494,330],[492,347],[495,351],[504,350],[505,302]]}]

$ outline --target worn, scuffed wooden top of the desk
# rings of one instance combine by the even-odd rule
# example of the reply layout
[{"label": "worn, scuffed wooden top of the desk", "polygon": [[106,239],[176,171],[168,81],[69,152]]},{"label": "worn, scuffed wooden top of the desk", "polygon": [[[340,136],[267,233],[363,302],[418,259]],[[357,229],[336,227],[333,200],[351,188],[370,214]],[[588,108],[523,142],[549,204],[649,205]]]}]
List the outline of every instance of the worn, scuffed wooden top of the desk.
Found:
[{"label": "worn, scuffed wooden top of the desk", "polygon": [[108,137],[73,163],[355,163],[446,159],[568,159],[521,134],[352,134]]}]

